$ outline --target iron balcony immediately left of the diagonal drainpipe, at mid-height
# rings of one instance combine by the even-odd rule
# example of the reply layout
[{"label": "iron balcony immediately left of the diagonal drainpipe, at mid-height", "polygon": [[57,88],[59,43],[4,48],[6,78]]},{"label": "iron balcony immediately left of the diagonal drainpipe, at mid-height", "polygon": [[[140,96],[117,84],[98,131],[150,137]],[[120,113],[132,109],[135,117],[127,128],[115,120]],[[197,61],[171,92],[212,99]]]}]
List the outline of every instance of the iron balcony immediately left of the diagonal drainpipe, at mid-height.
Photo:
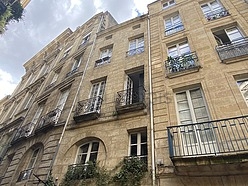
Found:
[{"label": "iron balcony immediately left of the diagonal drainpipe, at mid-height", "polygon": [[56,108],[45,116],[42,116],[35,132],[46,131],[47,129],[54,127],[58,123],[60,114],[61,110]]}]

